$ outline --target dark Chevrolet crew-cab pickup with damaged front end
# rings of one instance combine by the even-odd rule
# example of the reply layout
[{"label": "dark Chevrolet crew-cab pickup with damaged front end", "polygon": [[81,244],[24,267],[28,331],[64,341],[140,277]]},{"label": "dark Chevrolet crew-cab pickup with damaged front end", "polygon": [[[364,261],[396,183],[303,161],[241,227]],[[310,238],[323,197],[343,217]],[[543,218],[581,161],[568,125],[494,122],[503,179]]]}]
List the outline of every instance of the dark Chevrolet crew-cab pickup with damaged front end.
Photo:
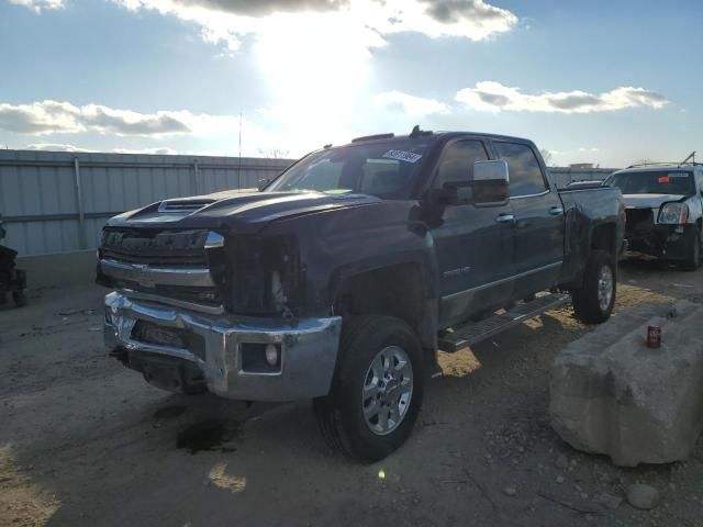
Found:
[{"label": "dark Chevrolet crew-cab pickup with damaged front end", "polygon": [[526,139],[360,137],[259,192],[110,220],[105,343],[166,390],[312,399],[330,445],[378,460],[410,435],[438,350],[569,295],[581,319],[605,321],[623,216],[617,189],[558,191]]}]

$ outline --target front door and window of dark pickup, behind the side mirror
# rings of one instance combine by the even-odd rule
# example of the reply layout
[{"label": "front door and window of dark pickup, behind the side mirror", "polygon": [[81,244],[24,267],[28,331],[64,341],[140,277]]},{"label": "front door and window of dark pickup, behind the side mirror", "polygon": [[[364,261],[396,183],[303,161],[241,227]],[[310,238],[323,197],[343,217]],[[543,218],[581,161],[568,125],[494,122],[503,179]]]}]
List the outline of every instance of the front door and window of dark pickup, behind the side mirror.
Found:
[{"label": "front door and window of dark pickup, behind the side mirror", "polygon": [[[480,139],[448,143],[437,164],[434,188],[471,187],[473,162],[488,158]],[[433,237],[440,274],[440,323],[446,326],[472,312],[500,307],[510,299],[515,254],[510,204],[447,205],[439,215]]]}]

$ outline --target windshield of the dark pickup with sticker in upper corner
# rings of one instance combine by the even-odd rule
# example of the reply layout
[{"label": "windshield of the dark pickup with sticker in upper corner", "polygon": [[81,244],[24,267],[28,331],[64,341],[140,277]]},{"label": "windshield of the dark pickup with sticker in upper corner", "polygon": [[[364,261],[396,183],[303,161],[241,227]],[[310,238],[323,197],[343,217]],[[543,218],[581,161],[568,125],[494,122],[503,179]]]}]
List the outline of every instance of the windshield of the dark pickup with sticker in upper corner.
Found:
[{"label": "windshield of the dark pickup with sticker in upper corner", "polygon": [[398,198],[415,177],[428,139],[360,143],[322,150],[283,172],[267,192],[317,191]]}]

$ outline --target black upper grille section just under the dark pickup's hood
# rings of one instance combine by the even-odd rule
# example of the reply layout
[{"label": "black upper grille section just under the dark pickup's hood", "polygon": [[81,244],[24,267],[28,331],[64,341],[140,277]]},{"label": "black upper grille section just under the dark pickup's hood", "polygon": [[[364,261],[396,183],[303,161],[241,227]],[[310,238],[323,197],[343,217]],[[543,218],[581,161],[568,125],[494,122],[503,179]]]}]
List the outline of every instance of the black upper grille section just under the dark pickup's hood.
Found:
[{"label": "black upper grille section just under the dark pickup's hood", "polygon": [[207,231],[105,228],[102,257],[158,267],[207,267]]}]

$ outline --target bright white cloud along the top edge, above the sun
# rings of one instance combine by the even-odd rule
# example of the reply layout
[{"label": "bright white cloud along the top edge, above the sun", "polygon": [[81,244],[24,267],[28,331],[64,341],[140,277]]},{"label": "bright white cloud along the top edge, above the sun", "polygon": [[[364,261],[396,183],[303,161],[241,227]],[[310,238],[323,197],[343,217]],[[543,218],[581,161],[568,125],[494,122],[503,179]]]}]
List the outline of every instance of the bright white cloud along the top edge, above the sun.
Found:
[{"label": "bright white cloud along the top edge, above the sun", "polygon": [[[112,0],[132,11],[153,10],[194,23],[203,40],[235,52],[246,35],[267,35],[286,24],[326,36],[330,25],[344,25],[324,46],[348,45],[349,32],[360,49],[383,45],[394,33],[416,32],[431,37],[458,36],[483,41],[517,25],[517,16],[483,0]],[[299,34],[302,34],[302,30]],[[290,42],[290,41],[289,41]]]}]

